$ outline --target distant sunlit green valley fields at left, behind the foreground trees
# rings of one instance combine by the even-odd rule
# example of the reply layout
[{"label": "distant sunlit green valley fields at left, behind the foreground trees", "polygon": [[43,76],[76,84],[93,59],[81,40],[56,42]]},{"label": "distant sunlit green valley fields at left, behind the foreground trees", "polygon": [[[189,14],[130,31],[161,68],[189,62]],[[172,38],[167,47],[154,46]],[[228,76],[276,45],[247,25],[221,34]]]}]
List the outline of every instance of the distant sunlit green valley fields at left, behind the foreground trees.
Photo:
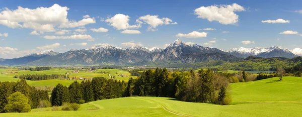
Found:
[{"label": "distant sunlit green valley fields at left, behind the foreground trees", "polygon": [[[45,70],[45,71],[26,71],[26,70],[19,70],[19,71],[13,71],[13,72],[18,72],[18,73],[11,73],[8,72],[8,70],[12,70],[12,69],[0,69],[0,81],[18,81],[18,78],[13,78],[13,76],[15,75],[22,75],[22,74],[46,74],[46,75],[51,75],[51,74],[65,74],[67,71],[71,72],[74,70],[66,70],[66,69],[51,69],[51,70]],[[110,76],[105,73],[98,73],[100,71],[103,72],[110,72],[110,76],[115,76],[115,78],[117,80],[125,80],[128,81],[128,79],[130,77],[132,78],[137,78],[137,76],[130,76],[130,73],[127,71],[123,71],[123,70],[119,70],[119,69],[98,69],[94,72],[79,72],[79,73],[72,73],[72,74],[68,74],[69,77],[83,77],[83,78],[93,78],[93,77],[105,77],[105,78],[110,78]],[[116,74],[117,72],[117,74]],[[128,75],[126,77],[121,77],[120,75]],[[73,81],[75,80],[58,80],[58,79],[54,79],[54,80],[41,80],[41,81],[30,81],[27,80],[27,83],[31,86],[55,86],[58,83],[61,83],[63,85],[70,85]],[[81,81],[80,81],[81,82]]]}]

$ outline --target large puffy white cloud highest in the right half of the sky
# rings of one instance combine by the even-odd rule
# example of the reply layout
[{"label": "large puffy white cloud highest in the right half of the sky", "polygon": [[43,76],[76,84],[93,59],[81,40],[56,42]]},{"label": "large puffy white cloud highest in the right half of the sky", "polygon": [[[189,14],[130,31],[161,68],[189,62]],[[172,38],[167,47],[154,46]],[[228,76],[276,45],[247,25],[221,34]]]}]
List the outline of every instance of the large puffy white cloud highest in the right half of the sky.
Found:
[{"label": "large puffy white cloud highest in the right half of the sky", "polygon": [[246,11],[238,4],[214,5],[197,8],[194,12],[197,18],[207,19],[208,21],[218,21],[220,24],[229,25],[238,22],[238,15],[235,12]]}]

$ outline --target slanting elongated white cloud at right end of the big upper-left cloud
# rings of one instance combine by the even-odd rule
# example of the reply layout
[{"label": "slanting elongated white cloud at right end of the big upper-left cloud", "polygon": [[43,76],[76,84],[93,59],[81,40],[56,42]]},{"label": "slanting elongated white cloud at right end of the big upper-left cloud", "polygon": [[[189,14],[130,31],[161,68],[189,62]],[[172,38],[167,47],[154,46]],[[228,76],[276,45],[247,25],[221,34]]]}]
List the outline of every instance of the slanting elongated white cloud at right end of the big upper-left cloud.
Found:
[{"label": "slanting elongated white cloud at right end of the big upper-left cloud", "polygon": [[96,23],[96,20],[93,18],[86,18],[83,20],[77,21],[69,21],[67,23],[61,24],[59,28],[75,28],[75,27],[82,27],[88,24],[94,24]]}]

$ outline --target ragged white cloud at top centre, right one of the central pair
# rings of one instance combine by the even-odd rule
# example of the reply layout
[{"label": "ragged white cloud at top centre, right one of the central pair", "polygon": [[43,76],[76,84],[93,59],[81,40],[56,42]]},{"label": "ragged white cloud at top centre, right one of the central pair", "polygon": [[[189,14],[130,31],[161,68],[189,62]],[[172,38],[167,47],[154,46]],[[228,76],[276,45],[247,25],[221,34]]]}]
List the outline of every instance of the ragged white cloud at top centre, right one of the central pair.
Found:
[{"label": "ragged white cloud at top centre, right one of the central pair", "polygon": [[148,24],[148,30],[147,31],[157,31],[156,27],[162,26],[162,25],[174,25],[177,24],[177,22],[174,22],[169,18],[158,18],[158,16],[151,16],[151,15],[145,15],[142,17],[139,17],[136,20],[136,23],[139,24]]}]

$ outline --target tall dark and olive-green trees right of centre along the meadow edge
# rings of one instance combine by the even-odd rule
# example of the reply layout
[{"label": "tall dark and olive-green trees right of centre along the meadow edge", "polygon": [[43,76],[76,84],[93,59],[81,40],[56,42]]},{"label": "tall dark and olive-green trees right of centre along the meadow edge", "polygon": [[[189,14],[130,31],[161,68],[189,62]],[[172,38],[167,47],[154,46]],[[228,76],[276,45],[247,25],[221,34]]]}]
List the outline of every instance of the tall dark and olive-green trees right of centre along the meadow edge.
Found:
[{"label": "tall dark and olive-green trees right of centre along the meadow edge", "polygon": [[[156,95],[175,97],[182,101],[211,102],[228,104],[227,87],[229,79],[212,70],[200,70],[198,73],[168,72],[166,68],[146,70],[137,79],[130,78],[126,96]],[[220,96],[219,96],[220,95]],[[230,98],[228,98],[230,102]]]}]

